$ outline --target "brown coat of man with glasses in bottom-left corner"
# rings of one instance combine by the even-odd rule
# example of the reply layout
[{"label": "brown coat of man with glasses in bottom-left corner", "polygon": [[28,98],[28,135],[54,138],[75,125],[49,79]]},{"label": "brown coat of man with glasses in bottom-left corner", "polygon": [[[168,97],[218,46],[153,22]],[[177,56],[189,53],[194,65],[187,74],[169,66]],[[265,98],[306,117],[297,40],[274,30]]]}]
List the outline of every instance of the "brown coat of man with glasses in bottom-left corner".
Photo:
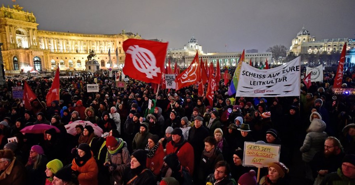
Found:
[{"label": "brown coat of man with glasses in bottom-left corner", "polygon": [[0,174],[0,184],[23,185],[27,182],[26,168],[13,157],[10,165]]}]

